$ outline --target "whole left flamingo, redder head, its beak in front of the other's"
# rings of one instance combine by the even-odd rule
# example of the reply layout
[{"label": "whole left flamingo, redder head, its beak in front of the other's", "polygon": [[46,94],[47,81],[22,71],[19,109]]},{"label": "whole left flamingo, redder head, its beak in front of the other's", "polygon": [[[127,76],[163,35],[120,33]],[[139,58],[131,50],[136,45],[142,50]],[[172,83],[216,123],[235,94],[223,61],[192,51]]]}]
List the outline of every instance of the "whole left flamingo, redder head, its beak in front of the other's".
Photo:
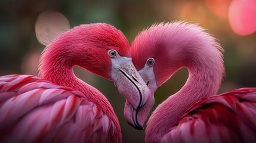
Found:
[{"label": "whole left flamingo, redder head, its beak in front of the other's", "polygon": [[122,142],[109,101],[75,76],[75,65],[113,80],[134,108],[150,98],[122,32],[109,24],[82,24],[44,49],[39,77],[0,77],[0,142]]}]

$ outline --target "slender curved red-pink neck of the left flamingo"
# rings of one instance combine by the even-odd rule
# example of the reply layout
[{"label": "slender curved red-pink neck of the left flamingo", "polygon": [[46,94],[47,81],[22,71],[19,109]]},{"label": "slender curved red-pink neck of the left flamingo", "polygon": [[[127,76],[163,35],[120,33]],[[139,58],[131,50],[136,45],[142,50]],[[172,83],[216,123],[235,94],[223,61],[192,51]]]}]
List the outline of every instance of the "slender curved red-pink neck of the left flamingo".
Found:
[{"label": "slender curved red-pink neck of the left flamingo", "polygon": [[[45,48],[39,64],[39,77],[50,80],[57,85],[67,86],[74,91],[82,92],[85,95],[84,98],[94,102],[113,121],[116,125],[116,135],[121,138],[118,118],[110,102],[100,91],[78,79],[73,73],[73,66],[79,65],[74,60],[78,55],[73,53],[75,49],[72,50],[72,48],[60,47],[58,45],[61,44],[53,43]],[[86,54],[83,54],[83,58],[90,59]],[[88,64],[90,64],[90,61],[88,61]]]}]

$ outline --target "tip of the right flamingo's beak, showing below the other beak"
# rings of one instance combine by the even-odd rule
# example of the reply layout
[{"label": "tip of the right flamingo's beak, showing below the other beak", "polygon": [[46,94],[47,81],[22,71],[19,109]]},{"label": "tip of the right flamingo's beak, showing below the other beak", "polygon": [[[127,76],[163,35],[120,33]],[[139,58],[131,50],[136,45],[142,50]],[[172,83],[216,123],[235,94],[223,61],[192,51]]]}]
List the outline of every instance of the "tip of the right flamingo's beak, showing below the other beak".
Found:
[{"label": "tip of the right flamingo's beak, showing below the other beak", "polygon": [[128,101],[126,101],[125,109],[124,109],[125,120],[127,120],[129,125],[131,125],[133,128],[138,130],[143,130],[144,123],[154,104],[155,104],[154,96],[152,96],[150,100],[139,110],[132,108],[132,105]]}]

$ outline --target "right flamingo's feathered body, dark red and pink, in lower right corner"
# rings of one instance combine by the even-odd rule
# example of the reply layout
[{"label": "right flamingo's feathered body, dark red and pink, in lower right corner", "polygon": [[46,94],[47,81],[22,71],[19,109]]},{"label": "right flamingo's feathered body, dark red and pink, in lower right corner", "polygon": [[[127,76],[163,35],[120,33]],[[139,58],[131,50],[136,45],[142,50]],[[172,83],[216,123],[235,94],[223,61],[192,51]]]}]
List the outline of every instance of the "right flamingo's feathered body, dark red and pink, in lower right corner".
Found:
[{"label": "right flamingo's feathered body, dark red and pink, in lower right corner", "polygon": [[256,88],[241,88],[193,104],[162,142],[256,142]]}]

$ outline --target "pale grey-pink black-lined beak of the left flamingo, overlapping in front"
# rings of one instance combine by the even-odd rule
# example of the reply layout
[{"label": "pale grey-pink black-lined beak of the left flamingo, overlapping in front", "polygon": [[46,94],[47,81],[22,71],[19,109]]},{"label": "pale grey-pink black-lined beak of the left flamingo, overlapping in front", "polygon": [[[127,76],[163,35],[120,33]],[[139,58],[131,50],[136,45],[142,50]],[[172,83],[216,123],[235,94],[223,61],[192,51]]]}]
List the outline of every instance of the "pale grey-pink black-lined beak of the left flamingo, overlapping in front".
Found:
[{"label": "pale grey-pink black-lined beak of the left flamingo, overlapping in front", "polygon": [[135,69],[131,58],[120,55],[112,58],[112,80],[120,94],[124,95],[136,110],[143,107],[151,96],[149,87]]}]

